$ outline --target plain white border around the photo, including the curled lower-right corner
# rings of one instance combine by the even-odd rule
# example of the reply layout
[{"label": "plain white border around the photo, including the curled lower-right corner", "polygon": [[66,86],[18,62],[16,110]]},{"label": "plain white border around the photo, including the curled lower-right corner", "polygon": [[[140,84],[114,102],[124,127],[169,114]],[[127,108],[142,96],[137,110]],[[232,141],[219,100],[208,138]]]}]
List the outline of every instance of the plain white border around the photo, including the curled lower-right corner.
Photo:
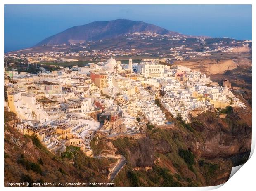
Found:
[{"label": "plain white border around the photo, including the curled lower-right corner", "polygon": [[[256,18],[256,8],[255,8],[255,4],[254,3],[255,0],[172,0],[172,1],[168,1],[168,0],[108,0],[107,2],[104,0],[1,0],[1,6],[0,6],[0,15],[1,15],[1,46],[0,46],[0,50],[1,50],[1,60],[2,60],[2,64],[4,63],[4,4],[252,4],[252,30],[255,31],[255,18]],[[252,40],[255,37],[255,32],[252,33]],[[252,49],[254,50],[254,43],[252,44]],[[254,56],[252,56],[252,65],[253,65],[253,70],[252,70],[252,83],[255,84],[256,82],[256,78],[254,77],[255,74],[255,66],[254,66]],[[3,70],[3,66],[0,67],[0,71],[2,73],[2,76],[4,74],[4,70]],[[0,83],[0,89],[4,90],[4,83],[3,83],[3,78],[2,78],[2,83]],[[3,91],[2,91],[3,93]],[[253,99],[253,104],[252,104],[252,116],[255,116],[255,104],[254,104],[254,100],[255,99],[255,88],[252,88],[252,99]],[[4,121],[4,105],[3,105],[3,101],[0,102],[0,108],[1,108],[1,115],[0,118],[3,123]],[[255,117],[252,118],[252,124],[254,126],[255,124]],[[3,124],[1,126],[1,143],[3,143],[3,134],[4,134],[4,128],[3,128]],[[254,147],[255,147],[255,130],[253,128],[253,133],[252,133],[252,149],[251,149],[251,155],[254,151]],[[2,170],[1,176],[0,176],[0,186],[3,187],[4,186],[4,144],[1,144],[1,152],[0,152],[0,160],[2,162],[0,168]],[[250,155],[250,156],[251,156]],[[223,185],[220,186],[213,186],[213,187],[195,187],[195,188],[191,188],[191,187],[183,187],[183,188],[161,188],[161,187],[147,187],[147,188],[141,188],[141,187],[137,187],[137,188],[133,188],[135,190],[155,190],[155,189],[161,189],[161,190],[190,190],[190,191],[198,191],[198,190],[211,190],[211,189],[216,189],[218,188],[218,190],[253,190],[255,189],[255,179],[254,179],[254,170],[256,169],[256,156],[255,154],[251,156],[251,158],[247,161],[247,163],[245,163],[243,165],[243,167],[239,170],[238,173],[235,173],[234,176],[232,176],[230,178],[230,180],[228,180],[228,182],[226,182]],[[23,188],[17,188],[17,187],[4,187],[5,190],[31,190],[31,189],[35,189],[35,187],[29,188],[29,187],[23,187]],[[38,187],[38,190],[43,190],[46,189],[44,187]],[[52,189],[56,189],[56,190],[70,190],[72,188],[70,187],[58,187],[58,188],[52,188]],[[95,188],[84,188],[84,187],[77,187],[75,189],[78,190],[95,190],[95,189],[100,189],[99,187],[95,187]],[[102,188],[105,191],[117,191],[120,188],[118,187],[104,187]],[[122,190],[130,190],[130,187],[122,187]]]}]

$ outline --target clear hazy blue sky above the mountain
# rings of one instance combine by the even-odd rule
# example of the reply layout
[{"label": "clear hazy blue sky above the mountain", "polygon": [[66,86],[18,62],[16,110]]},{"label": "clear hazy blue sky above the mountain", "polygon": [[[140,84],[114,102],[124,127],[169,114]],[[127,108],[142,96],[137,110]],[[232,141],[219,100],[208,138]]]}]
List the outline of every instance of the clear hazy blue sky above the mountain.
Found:
[{"label": "clear hazy blue sky above the mountain", "polygon": [[251,40],[251,5],[5,5],[5,52],[93,21],[144,21],[185,35]]}]

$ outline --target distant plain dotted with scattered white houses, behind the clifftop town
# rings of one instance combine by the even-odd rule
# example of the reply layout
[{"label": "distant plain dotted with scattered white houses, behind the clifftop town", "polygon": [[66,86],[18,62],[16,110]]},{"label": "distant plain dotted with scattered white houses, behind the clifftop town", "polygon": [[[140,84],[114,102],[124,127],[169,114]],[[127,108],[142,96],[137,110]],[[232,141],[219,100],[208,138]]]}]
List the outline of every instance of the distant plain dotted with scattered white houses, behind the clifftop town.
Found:
[{"label": "distant plain dotted with scattered white houses, behind the clifftop town", "polygon": [[[49,47],[51,51],[45,51],[40,53],[8,53],[5,57],[14,57],[16,59],[22,59],[27,63],[39,63],[39,62],[74,62],[78,61],[78,57],[90,57],[91,61],[106,61],[106,57],[132,57],[132,56],[155,56],[160,58],[170,58],[172,60],[185,60],[198,57],[211,56],[215,52],[234,52],[236,47],[248,48],[251,40],[224,40],[215,39],[211,42],[208,38],[185,38],[184,36],[171,36],[171,35],[159,35],[157,33],[151,33],[148,31],[142,33],[130,33],[123,36],[124,40],[137,42],[138,40],[147,43],[157,42],[171,42],[170,48],[167,51],[152,52],[143,48],[116,48],[109,50],[97,50],[96,44],[104,42],[103,40],[96,41],[81,41],[79,43],[70,43],[66,45],[42,45],[43,47]],[[225,38],[224,38],[225,39]],[[93,46],[92,46],[93,45]],[[100,45],[100,44],[99,44]],[[61,51],[57,48],[61,47]],[[75,48],[76,47],[76,48]],[[74,51],[74,49],[77,49]],[[26,52],[26,50],[24,50]],[[95,58],[95,59],[93,59]]]}]

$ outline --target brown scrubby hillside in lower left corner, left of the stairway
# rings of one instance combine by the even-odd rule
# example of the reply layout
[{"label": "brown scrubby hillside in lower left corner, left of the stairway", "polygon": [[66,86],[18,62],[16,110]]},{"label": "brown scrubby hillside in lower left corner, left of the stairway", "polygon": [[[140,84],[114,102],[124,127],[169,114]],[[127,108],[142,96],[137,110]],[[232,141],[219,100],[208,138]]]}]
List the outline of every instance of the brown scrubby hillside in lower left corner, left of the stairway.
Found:
[{"label": "brown scrubby hillside in lower left corner, left of the stairway", "polygon": [[[25,152],[11,141],[19,137]],[[68,147],[62,156],[56,156],[36,137],[21,136],[12,126],[5,124],[5,183],[62,182],[65,186],[71,182],[109,182],[107,175],[111,163],[114,161],[110,159],[87,157],[76,147]]]}]

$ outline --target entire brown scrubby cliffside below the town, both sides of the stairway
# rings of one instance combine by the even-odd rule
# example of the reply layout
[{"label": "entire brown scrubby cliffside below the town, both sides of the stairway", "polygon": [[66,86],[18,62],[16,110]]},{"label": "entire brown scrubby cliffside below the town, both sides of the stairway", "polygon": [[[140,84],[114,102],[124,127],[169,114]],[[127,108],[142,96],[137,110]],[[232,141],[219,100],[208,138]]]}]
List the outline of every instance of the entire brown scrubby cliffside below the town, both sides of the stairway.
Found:
[{"label": "entire brown scrubby cliffside below the town, both sides of the stairway", "polygon": [[[116,186],[213,186],[226,182],[232,166],[245,163],[251,149],[249,111],[203,113],[175,127],[145,130],[146,137],[108,139],[98,134],[93,153],[121,154],[126,166]],[[55,156],[35,137],[21,136],[5,125],[5,182],[109,182],[109,166],[116,161],[88,158],[76,148]],[[26,150],[14,146],[18,138]],[[14,147],[13,147],[14,146]],[[68,159],[63,156],[68,156]]]}]

